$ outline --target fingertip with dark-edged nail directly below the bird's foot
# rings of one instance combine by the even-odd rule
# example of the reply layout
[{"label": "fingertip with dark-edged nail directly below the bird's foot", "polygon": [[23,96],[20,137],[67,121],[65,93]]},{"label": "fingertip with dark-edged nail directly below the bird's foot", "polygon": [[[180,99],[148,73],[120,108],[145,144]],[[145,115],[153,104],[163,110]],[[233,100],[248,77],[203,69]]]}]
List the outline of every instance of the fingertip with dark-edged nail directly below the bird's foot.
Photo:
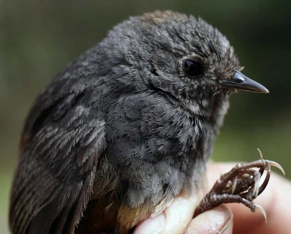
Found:
[{"label": "fingertip with dark-edged nail directly below the bird's foot", "polygon": [[229,207],[221,205],[192,219],[185,234],[231,234],[233,215]]}]

